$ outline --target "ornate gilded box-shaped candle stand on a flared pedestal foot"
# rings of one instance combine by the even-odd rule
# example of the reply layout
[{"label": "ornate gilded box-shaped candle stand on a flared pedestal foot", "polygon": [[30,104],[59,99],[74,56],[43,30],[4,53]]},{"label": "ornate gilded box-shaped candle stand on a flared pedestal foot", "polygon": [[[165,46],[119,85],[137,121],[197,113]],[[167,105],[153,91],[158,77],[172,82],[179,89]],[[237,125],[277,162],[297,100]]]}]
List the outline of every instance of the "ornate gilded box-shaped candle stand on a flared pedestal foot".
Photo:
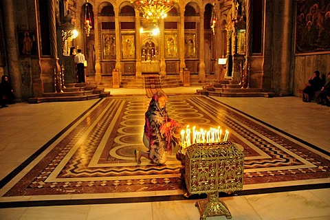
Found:
[{"label": "ornate gilded box-shaped candle stand on a flared pedestal foot", "polygon": [[192,144],[184,148],[184,180],[190,195],[208,194],[197,201],[201,220],[225,215],[232,217],[219,192],[234,192],[243,188],[244,154],[232,142]]}]

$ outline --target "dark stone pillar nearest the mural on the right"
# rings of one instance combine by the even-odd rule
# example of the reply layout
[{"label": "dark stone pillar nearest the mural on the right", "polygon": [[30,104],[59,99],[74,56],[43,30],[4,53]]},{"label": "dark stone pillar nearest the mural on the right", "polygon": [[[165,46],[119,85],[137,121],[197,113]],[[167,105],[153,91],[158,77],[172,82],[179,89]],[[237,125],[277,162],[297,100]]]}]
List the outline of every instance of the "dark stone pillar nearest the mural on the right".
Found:
[{"label": "dark stone pillar nearest the mural on the right", "polygon": [[292,0],[284,1],[284,12],[283,12],[283,46],[281,48],[282,59],[281,59],[281,89],[280,96],[287,96],[290,94],[290,73],[291,73],[291,61],[292,56],[290,48],[292,48],[292,18],[294,15]]}]

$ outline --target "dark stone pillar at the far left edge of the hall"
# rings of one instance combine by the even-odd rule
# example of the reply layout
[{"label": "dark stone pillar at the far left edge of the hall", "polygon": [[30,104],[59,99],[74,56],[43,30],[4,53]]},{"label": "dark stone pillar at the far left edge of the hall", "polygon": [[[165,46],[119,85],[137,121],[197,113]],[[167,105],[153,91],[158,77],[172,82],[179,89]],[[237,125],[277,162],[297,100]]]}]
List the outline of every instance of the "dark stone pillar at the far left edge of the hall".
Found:
[{"label": "dark stone pillar at the far left edge of the hall", "polygon": [[21,94],[21,72],[19,69],[19,54],[17,53],[17,40],[15,32],[14,5],[12,0],[3,0],[3,14],[5,19],[4,31],[8,56],[8,70],[10,84],[15,92],[17,101],[22,100]]}]

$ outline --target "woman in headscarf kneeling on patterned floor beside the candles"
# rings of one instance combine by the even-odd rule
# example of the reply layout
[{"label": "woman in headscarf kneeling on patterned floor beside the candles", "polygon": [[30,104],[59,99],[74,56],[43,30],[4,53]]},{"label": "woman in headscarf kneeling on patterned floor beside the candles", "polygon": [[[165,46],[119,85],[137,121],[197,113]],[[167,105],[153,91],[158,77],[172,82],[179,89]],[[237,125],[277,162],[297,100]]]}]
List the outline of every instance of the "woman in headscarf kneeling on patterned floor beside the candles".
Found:
[{"label": "woman in headscarf kneeling on patterned floor beside the candles", "polygon": [[140,164],[141,157],[146,157],[154,164],[166,163],[165,151],[171,151],[174,144],[175,131],[179,124],[168,118],[166,111],[167,96],[162,92],[153,95],[145,115],[143,143],[148,148],[147,152],[135,150],[135,161]]}]

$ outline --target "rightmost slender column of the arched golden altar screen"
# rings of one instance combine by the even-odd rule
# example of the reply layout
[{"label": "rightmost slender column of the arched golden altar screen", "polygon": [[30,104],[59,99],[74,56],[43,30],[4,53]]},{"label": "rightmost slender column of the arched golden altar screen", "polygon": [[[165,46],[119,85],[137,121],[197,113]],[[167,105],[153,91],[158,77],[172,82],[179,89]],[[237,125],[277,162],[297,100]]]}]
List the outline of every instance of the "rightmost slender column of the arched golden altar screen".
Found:
[{"label": "rightmost slender column of the arched golden altar screen", "polygon": [[199,11],[201,15],[199,21],[199,78],[202,83],[205,81],[204,11],[205,9]]}]

